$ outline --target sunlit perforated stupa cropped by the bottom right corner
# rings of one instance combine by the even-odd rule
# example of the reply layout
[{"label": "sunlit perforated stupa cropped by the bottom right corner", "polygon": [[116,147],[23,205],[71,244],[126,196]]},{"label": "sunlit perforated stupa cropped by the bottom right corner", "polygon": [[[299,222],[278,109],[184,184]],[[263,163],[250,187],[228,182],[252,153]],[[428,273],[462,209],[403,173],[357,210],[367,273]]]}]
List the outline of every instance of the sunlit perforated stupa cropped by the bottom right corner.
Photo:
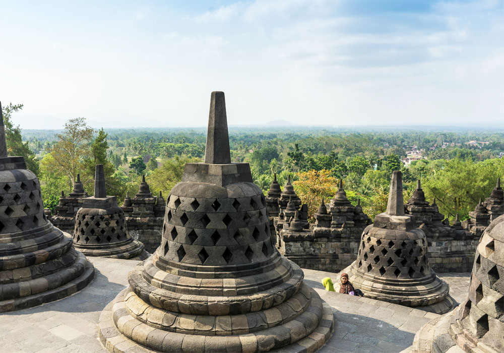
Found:
[{"label": "sunlit perforated stupa cropped by the bottom right corner", "polygon": [[494,219],[481,237],[467,300],[423,326],[407,351],[504,351],[504,215]]}]

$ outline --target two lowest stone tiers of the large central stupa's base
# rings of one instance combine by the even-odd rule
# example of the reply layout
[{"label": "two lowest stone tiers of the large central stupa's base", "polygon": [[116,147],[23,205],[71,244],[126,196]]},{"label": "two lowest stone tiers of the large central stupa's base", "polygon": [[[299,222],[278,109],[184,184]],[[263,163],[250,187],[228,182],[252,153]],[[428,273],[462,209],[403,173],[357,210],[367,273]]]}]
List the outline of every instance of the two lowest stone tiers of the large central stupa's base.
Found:
[{"label": "two lowest stone tiers of the large central stupa's base", "polygon": [[[98,323],[99,336],[105,348],[118,353],[132,351],[136,353],[312,352],[320,349],[331,336],[334,317],[331,307],[324,303],[313,289],[309,289],[309,292],[311,300],[304,312],[291,321],[277,326],[271,325],[273,327],[270,328],[268,328],[269,321],[282,320],[283,313],[275,308],[267,310],[268,313],[263,311],[266,322],[262,323],[258,313],[199,317],[182,315],[174,319],[174,322],[168,322],[167,319],[174,315],[158,310],[161,315],[159,315],[157,326],[163,328],[159,329],[130,315],[125,302],[135,300],[136,296],[131,289],[127,288],[122,290],[102,311]],[[295,306],[295,302],[291,305]],[[166,313],[165,316],[162,315],[163,313]],[[154,316],[152,313],[149,315]],[[255,315],[257,317],[254,317]],[[257,321],[254,323],[250,321],[252,319]],[[187,333],[180,333],[179,328],[176,328],[176,331],[174,329],[175,332],[169,332],[170,325],[175,328],[177,322],[177,327],[185,326]],[[266,324],[266,326],[263,329],[258,328],[261,324]],[[251,332],[253,325],[257,325],[255,332]],[[190,332],[207,334],[190,334]],[[146,348],[147,344],[157,350]]]}]

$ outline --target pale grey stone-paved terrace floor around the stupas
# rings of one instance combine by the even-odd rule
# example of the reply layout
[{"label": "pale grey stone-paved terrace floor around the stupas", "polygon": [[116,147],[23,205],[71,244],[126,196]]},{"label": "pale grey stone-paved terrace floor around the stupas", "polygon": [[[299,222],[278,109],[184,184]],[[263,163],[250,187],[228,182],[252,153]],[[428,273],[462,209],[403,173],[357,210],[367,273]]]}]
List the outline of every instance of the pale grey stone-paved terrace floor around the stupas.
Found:
[{"label": "pale grey stone-paved terrace floor around the stupas", "polygon": [[[134,260],[88,258],[95,266],[93,282],[74,296],[36,308],[0,314],[2,353],[105,353],[98,340],[101,310],[128,283]],[[321,279],[335,273],[304,270],[305,282],[333,307],[335,331],[319,350],[333,352],[400,352],[418,329],[436,314],[400,305],[358,298],[323,289]],[[467,295],[469,273],[442,274],[457,301]]]}]

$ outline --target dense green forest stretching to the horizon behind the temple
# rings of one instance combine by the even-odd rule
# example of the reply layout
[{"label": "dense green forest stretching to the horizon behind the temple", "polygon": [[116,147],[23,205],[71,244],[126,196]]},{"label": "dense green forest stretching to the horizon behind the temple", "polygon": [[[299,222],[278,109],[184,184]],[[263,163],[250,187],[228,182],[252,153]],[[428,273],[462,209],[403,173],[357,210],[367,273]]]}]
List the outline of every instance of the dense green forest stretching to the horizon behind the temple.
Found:
[{"label": "dense green forest stretching to the horizon behind the temple", "polygon": [[[206,129],[91,129],[84,118],[61,130],[15,126],[22,105],[3,108],[10,155],[22,155],[41,183],[45,207],[53,209],[81,174],[93,191],[94,166],[105,165],[107,193],[119,202],[138,191],[142,175],[155,194],[180,181],[187,161],[201,161]],[[403,171],[405,199],[421,180],[428,201],[453,219],[468,217],[504,177],[504,130],[439,127],[230,127],[231,158],[250,163],[254,182],[267,193],[277,174],[290,175],[310,216],[331,199],[339,180],[348,197],[369,216],[386,207],[390,175]]]}]

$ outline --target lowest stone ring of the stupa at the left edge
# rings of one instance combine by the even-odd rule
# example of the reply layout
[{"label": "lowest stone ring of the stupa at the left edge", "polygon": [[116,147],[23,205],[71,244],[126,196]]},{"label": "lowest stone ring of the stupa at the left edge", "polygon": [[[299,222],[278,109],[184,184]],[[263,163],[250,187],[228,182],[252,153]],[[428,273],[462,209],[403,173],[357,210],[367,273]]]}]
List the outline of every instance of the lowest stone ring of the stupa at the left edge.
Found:
[{"label": "lowest stone ring of the stupa at the left edge", "polygon": [[[81,255],[84,257],[83,255]],[[42,291],[31,296],[0,301],[0,313],[36,307],[41,304],[54,302],[69,297],[86,287],[94,278],[93,264],[87,260],[84,273],[57,288]],[[42,277],[43,278],[43,277]]]}]

